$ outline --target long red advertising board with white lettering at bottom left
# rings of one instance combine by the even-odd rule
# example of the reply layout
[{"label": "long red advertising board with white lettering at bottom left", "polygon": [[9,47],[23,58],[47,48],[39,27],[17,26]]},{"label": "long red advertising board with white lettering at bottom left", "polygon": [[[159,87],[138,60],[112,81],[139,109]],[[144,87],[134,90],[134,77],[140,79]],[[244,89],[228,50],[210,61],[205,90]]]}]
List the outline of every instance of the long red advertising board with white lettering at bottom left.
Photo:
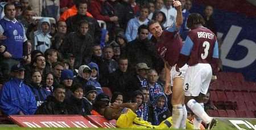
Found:
[{"label": "long red advertising board with white lettering at bottom left", "polygon": [[9,118],[20,127],[98,128],[92,121],[80,115],[13,115]]}]

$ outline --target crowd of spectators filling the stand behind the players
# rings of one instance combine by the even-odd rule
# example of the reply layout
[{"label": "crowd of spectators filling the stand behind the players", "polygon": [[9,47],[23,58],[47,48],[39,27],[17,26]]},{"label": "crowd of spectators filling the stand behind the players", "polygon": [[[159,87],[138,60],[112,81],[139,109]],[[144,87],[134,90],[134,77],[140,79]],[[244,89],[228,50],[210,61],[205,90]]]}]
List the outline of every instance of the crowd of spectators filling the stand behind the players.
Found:
[{"label": "crowd of spectators filling the stand behind the players", "polygon": [[[192,1],[180,1],[185,39]],[[1,1],[2,113],[103,115],[110,103],[135,102],[137,115],[158,125],[171,116],[171,104],[163,90],[164,63],[147,23],[152,19],[173,26],[177,11],[172,2]],[[207,6],[205,26],[216,33],[212,13]]]}]

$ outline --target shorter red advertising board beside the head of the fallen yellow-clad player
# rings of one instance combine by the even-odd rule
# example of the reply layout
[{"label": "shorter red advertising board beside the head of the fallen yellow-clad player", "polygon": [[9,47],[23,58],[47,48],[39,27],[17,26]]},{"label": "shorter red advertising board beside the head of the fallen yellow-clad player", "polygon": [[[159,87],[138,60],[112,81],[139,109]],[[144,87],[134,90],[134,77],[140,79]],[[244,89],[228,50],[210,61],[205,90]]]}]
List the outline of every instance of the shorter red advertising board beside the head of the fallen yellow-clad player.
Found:
[{"label": "shorter red advertising board beside the head of the fallen yellow-clad player", "polygon": [[103,128],[115,128],[116,120],[107,120],[104,116],[85,116],[86,119],[91,120],[93,124]]}]

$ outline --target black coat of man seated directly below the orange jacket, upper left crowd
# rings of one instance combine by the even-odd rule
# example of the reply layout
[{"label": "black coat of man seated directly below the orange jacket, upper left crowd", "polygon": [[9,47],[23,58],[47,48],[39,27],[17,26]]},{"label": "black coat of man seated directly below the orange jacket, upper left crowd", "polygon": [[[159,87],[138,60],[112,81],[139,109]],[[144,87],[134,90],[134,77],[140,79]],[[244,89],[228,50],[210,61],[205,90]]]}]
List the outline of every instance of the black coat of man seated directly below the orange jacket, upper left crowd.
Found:
[{"label": "black coat of man seated directly below the orange jacket, upper left crowd", "polygon": [[89,64],[92,58],[92,45],[93,38],[86,33],[81,35],[80,32],[69,33],[64,44],[61,45],[61,53],[73,54],[75,56],[74,68],[77,69],[79,66]]}]

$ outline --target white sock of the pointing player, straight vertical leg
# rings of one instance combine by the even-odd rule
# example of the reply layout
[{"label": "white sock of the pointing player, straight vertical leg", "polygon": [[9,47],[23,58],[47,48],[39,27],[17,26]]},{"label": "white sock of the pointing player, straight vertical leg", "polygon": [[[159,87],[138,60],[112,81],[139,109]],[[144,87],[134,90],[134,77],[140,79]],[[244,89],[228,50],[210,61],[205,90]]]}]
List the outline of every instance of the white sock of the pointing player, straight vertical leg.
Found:
[{"label": "white sock of the pointing player, straight vertical leg", "polygon": [[179,129],[181,119],[183,118],[183,108],[181,104],[172,105],[172,122],[173,128]]}]

